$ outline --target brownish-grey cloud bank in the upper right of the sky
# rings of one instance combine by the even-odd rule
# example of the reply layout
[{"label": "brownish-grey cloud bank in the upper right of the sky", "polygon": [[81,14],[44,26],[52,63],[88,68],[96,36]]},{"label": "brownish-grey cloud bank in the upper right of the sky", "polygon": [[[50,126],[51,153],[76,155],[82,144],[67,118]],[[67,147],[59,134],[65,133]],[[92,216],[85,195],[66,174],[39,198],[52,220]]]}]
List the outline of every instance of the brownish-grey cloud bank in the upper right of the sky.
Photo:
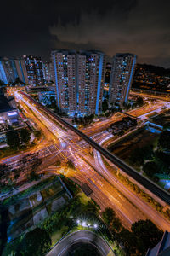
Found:
[{"label": "brownish-grey cloud bank in the upper right of the sky", "polygon": [[[79,23],[50,26],[58,45],[102,49],[108,55],[133,52],[139,61],[170,67],[170,4],[167,1],[143,0],[115,4],[105,14],[82,11]],[[122,9],[121,9],[122,6]]]}]

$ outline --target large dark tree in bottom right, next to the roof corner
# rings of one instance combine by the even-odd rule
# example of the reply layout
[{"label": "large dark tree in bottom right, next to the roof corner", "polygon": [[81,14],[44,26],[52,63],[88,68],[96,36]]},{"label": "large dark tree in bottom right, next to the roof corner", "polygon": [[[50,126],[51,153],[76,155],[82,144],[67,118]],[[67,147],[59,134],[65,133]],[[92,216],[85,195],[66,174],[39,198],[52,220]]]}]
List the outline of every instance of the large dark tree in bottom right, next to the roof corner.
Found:
[{"label": "large dark tree in bottom right, next to the roof corner", "polygon": [[155,247],[161,241],[162,230],[159,230],[150,219],[139,220],[132,224],[133,235],[136,236],[139,252],[146,253],[148,248]]}]

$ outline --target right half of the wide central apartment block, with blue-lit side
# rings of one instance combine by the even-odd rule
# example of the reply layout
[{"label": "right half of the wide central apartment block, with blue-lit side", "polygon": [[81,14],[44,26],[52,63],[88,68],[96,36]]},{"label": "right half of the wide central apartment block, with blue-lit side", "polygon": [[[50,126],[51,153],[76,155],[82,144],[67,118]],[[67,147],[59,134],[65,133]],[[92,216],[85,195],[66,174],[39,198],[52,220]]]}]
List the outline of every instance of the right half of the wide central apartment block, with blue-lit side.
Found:
[{"label": "right half of the wide central apartment block, with blue-lit side", "polygon": [[99,114],[105,79],[105,55],[99,51],[77,53],[77,112]]}]

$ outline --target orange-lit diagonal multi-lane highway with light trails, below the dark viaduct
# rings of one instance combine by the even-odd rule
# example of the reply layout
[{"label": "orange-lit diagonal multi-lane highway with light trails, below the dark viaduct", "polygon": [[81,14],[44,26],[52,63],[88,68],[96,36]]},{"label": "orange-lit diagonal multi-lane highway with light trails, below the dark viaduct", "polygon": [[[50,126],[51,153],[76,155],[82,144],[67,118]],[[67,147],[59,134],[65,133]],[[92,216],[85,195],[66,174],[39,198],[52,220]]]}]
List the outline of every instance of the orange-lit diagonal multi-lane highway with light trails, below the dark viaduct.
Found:
[{"label": "orange-lit diagonal multi-lane highway with light trails, below the dark viaduct", "polygon": [[[35,103],[32,104],[31,100],[28,100],[26,96],[20,96],[20,100],[21,105],[26,104],[31,108],[33,113],[36,114],[37,119],[41,119],[42,124],[46,128],[48,127],[48,131],[51,132],[51,138],[57,138],[59,141],[57,148],[59,153],[63,154],[63,157],[65,157],[64,159],[72,160],[77,166],[77,170],[68,172],[67,176],[81,184],[88,183],[88,186],[94,191],[91,197],[99,203],[102,210],[105,209],[105,207],[113,207],[117,216],[122,219],[122,224],[127,228],[130,228],[134,221],[149,217],[157,225],[161,226],[163,230],[170,230],[170,224],[166,219],[162,218],[158,212],[148,206],[144,201],[139,198],[137,199],[136,196],[123,185],[121,186],[121,183],[111,175],[111,172],[109,172],[105,166],[102,166],[99,151],[97,158],[94,155],[94,159],[90,159],[89,154],[84,150],[87,146],[84,145],[82,141],[75,143],[76,137],[74,137],[73,140],[68,131],[62,130],[56,125],[50,115],[47,116],[44,114],[44,110],[42,111],[42,108],[38,109],[37,105]],[[100,133],[100,136],[97,136],[97,134],[93,136],[97,141],[99,137],[105,139],[105,132]],[[99,143],[101,143],[101,141],[99,141]],[[90,163],[90,165],[88,163]],[[109,180],[109,182],[107,180]],[[119,190],[121,190],[122,193],[120,193]],[[124,195],[126,195],[127,198]],[[133,203],[131,203],[131,201],[133,201]],[[138,207],[136,207],[137,205]]]}]

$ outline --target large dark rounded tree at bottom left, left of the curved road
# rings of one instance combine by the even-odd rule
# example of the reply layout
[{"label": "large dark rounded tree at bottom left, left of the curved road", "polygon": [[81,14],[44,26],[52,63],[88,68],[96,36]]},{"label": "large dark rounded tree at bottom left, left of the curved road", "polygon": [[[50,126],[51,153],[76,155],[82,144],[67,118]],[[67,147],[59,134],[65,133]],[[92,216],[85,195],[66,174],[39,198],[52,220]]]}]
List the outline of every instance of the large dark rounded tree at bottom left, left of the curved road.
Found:
[{"label": "large dark rounded tree at bottom left, left of the curved road", "polygon": [[40,228],[36,228],[26,233],[26,236],[20,242],[16,256],[39,256],[48,253],[52,241],[48,232]]}]

